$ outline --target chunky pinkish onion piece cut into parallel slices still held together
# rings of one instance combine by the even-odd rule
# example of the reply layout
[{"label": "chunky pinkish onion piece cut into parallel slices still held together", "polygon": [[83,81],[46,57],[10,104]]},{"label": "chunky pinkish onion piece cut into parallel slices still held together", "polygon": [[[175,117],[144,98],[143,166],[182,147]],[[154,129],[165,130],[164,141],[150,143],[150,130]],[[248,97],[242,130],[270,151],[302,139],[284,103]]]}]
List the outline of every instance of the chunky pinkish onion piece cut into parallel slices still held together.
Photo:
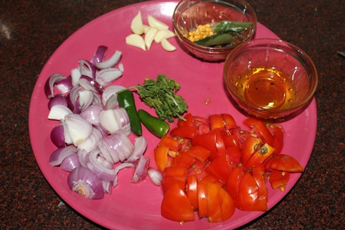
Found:
[{"label": "chunky pinkish onion piece cut into parallel slices still held together", "polygon": [[103,157],[112,164],[119,161],[124,162],[134,151],[132,142],[123,131],[116,131],[112,135],[99,140],[98,146]]}]

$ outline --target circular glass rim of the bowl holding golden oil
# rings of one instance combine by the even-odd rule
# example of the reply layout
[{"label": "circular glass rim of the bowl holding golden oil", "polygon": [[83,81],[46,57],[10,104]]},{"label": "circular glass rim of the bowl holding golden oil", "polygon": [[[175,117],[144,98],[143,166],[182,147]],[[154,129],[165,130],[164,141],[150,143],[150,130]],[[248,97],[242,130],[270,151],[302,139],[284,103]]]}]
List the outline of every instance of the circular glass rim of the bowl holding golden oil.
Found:
[{"label": "circular glass rim of the bowl holding golden oil", "polygon": [[[261,108],[261,107],[254,106],[253,104],[246,102],[244,99],[239,97],[235,92],[233,92],[233,89],[230,87],[230,84],[228,83],[227,74],[226,74],[227,73],[227,71],[226,71],[227,65],[226,64],[228,63],[231,55],[233,55],[234,52],[237,52],[237,50],[243,48],[244,46],[248,46],[250,44],[253,44],[253,43],[259,42],[259,41],[266,41],[266,44],[272,44],[274,42],[275,44],[284,44],[285,46],[290,46],[290,48],[293,48],[296,52],[299,52],[307,60],[307,63],[311,67],[311,75],[315,76],[312,79],[312,82],[314,81],[315,84],[311,83],[312,86],[314,85],[314,87],[310,88],[308,90],[308,97],[306,97],[302,102],[299,102],[299,104],[296,104],[295,106],[292,106],[290,108],[283,108],[283,109]],[[304,65],[302,65],[302,66],[304,66]],[[305,66],[304,66],[304,68],[305,68]],[[283,39],[274,39],[274,38],[251,39],[251,40],[246,41],[246,42],[240,44],[239,46],[235,47],[233,50],[231,50],[231,52],[228,54],[228,56],[226,57],[226,59],[224,61],[223,78],[224,78],[224,81],[226,84],[226,88],[228,88],[228,91],[230,92],[230,94],[233,97],[235,97],[234,99],[237,102],[237,104],[241,104],[242,106],[246,106],[246,108],[244,108],[246,111],[248,111],[248,110],[254,111],[255,113],[262,113],[265,115],[279,115],[279,114],[289,115],[290,113],[297,111],[299,108],[302,108],[305,104],[308,104],[308,102],[315,95],[315,92],[317,89],[317,84],[318,84],[318,79],[319,79],[313,60],[304,50],[302,50],[301,48],[299,48],[298,46],[296,46],[294,44],[291,44],[288,41],[285,41]]]}]

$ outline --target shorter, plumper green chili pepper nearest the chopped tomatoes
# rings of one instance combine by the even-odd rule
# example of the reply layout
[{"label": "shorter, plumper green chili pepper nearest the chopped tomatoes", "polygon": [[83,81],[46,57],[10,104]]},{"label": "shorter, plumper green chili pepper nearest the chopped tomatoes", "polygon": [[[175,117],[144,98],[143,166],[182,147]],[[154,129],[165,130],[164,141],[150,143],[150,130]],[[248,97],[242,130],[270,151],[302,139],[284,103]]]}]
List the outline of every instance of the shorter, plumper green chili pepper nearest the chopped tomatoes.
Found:
[{"label": "shorter, plumper green chili pepper nearest the chopped tomatoes", "polygon": [[154,117],[142,109],[139,109],[138,115],[141,122],[153,135],[163,137],[164,135],[168,134],[170,129],[168,122],[164,121],[163,119],[159,119],[158,117]]}]

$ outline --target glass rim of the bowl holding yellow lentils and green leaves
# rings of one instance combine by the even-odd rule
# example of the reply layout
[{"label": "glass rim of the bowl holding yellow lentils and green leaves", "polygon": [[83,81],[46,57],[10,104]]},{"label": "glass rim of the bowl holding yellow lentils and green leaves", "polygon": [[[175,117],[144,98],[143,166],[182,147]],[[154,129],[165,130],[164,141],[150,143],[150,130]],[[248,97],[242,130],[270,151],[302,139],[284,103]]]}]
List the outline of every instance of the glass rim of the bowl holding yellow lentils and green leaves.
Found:
[{"label": "glass rim of the bowl holding yellow lentils and green leaves", "polygon": [[[229,50],[233,50],[233,48],[236,48],[237,46],[244,44],[246,41],[249,41],[253,35],[255,34],[256,30],[257,30],[257,15],[255,13],[255,10],[252,6],[250,6],[250,4],[246,1],[246,0],[236,0],[236,1],[240,1],[243,3],[243,5],[249,9],[250,15],[253,18],[253,21],[251,21],[253,23],[253,29],[250,32],[250,35],[248,35],[248,37],[246,37],[246,39],[244,39],[243,41],[239,42],[238,44],[235,44],[233,46],[226,46],[226,47],[208,47],[208,46],[200,46],[198,44],[195,44],[193,41],[190,41],[189,39],[187,39],[186,37],[184,37],[184,35],[182,35],[182,33],[177,29],[177,21],[175,19],[175,13],[177,8],[181,5],[182,1],[179,1],[179,3],[177,3],[177,6],[174,9],[174,12],[172,13],[172,26],[174,27],[175,33],[177,34],[177,37],[183,41],[185,41],[188,46],[194,47],[194,48],[200,48],[203,52],[226,52]],[[224,2],[223,0],[200,0],[197,1],[195,3],[199,3],[199,2],[210,2],[210,1],[215,1],[217,3],[222,3]],[[248,10],[246,10],[246,12],[248,12]]]}]

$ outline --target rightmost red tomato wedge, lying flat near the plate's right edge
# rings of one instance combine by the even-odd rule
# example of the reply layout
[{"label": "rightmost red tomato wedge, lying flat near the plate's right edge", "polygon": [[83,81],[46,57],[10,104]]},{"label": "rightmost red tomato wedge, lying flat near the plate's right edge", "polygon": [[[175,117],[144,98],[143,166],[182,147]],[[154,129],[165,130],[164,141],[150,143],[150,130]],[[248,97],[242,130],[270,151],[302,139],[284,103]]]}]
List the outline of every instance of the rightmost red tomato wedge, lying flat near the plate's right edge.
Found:
[{"label": "rightmost red tomato wedge, lying flat near the plate's right edge", "polygon": [[265,163],[265,169],[266,171],[277,169],[290,173],[303,172],[301,164],[299,164],[299,162],[294,157],[285,154],[275,155],[275,157],[270,158],[270,160]]}]

